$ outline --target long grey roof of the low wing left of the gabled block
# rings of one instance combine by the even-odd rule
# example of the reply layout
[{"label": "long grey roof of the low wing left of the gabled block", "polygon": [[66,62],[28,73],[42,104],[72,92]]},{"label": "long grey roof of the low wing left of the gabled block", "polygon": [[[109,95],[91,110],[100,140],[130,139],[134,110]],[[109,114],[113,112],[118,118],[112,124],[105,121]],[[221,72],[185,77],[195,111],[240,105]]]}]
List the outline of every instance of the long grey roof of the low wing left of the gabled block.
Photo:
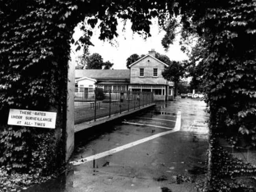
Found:
[{"label": "long grey roof of the low wing left of the gabled block", "polygon": [[130,79],[129,69],[76,69],[76,78],[92,78],[92,79]]}]

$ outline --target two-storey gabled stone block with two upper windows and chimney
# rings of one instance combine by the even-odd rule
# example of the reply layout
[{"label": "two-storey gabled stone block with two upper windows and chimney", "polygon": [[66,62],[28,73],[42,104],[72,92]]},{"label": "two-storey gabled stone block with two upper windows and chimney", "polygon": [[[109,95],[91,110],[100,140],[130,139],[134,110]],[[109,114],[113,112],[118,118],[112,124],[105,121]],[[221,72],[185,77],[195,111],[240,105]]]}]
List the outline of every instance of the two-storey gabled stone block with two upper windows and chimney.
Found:
[{"label": "two-storey gabled stone block with two upper windows and chimney", "polygon": [[162,71],[168,65],[157,59],[155,54],[151,50],[149,54],[129,65],[129,90],[153,92],[154,100],[172,100],[173,83],[162,76]]}]

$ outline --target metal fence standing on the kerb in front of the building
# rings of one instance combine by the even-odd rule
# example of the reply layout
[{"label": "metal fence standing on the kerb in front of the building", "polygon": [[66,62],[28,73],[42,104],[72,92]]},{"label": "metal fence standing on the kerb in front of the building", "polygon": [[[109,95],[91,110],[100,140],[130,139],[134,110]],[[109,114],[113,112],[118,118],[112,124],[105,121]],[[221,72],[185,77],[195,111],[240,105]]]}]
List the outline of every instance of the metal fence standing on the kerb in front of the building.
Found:
[{"label": "metal fence standing on the kerb in front of the building", "polygon": [[75,124],[96,121],[97,118],[138,109],[152,102],[152,92],[78,88],[74,101]]}]

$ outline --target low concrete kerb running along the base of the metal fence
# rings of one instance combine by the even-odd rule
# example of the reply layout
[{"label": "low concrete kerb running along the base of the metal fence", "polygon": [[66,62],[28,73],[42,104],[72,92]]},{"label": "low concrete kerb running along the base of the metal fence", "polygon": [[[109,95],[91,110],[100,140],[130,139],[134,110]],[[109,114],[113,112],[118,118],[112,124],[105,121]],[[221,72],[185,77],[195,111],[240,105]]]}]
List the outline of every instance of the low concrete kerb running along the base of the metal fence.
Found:
[{"label": "low concrete kerb running along the base of the metal fence", "polygon": [[144,107],[140,107],[140,108],[135,109],[135,110],[123,111],[121,114],[120,113],[119,114],[113,114],[111,117],[106,116],[106,117],[98,118],[98,119],[96,119],[96,121],[91,120],[89,122],[78,124],[78,125],[74,126],[74,132],[77,133],[78,131],[82,131],[82,130],[89,129],[89,128],[92,128],[92,127],[95,127],[95,126],[99,126],[100,124],[104,124],[106,122],[116,120],[118,118],[130,115],[132,113],[137,113],[138,111],[141,111],[143,109],[147,109],[148,107],[152,107],[152,106],[155,106],[155,105],[156,105],[155,103],[152,103],[152,104],[149,104],[149,105],[144,106]]}]

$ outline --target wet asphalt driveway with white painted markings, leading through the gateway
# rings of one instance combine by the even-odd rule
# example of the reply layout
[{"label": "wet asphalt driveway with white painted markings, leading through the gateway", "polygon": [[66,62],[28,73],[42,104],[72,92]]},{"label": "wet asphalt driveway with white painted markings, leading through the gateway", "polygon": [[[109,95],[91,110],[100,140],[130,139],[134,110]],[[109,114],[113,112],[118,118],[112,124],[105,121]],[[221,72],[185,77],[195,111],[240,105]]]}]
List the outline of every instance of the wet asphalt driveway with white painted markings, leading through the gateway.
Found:
[{"label": "wet asphalt driveway with white painted markings, leading through the gateway", "polygon": [[178,98],[79,132],[69,170],[23,192],[196,191],[176,176],[204,177],[205,108],[203,101]]}]

